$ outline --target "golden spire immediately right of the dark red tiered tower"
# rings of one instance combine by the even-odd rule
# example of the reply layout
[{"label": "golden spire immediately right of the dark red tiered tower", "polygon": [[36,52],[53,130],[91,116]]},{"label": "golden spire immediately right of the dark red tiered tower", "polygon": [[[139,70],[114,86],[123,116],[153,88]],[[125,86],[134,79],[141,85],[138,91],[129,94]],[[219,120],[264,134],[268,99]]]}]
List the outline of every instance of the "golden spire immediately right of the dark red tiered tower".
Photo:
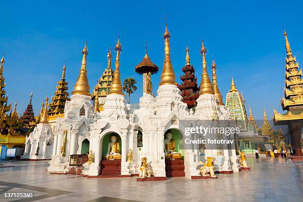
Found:
[{"label": "golden spire immediately right of the dark red tiered tower", "polygon": [[201,84],[200,84],[200,95],[204,94],[212,94],[214,95],[212,85],[210,83],[210,79],[207,73],[206,69],[206,59],[205,59],[205,54],[206,54],[206,49],[204,47],[204,40],[202,40],[202,48],[200,50],[200,53],[202,54],[202,79],[201,79]]}]

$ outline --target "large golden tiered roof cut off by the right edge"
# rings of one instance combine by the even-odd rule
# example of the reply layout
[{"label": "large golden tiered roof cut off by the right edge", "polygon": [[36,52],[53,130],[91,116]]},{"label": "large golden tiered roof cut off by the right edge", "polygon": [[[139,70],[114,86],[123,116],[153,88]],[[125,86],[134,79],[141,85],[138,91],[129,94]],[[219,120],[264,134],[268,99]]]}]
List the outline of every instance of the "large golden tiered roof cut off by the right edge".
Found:
[{"label": "large golden tiered roof cut off by the right edge", "polygon": [[283,110],[287,110],[285,114],[278,113],[274,110],[274,121],[287,121],[303,119],[303,79],[302,69],[299,70],[299,62],[293,55],[287,33],[284,30],[285,47],[287,57],[285,58],[285,89],[284,98],[281,99]]}]

